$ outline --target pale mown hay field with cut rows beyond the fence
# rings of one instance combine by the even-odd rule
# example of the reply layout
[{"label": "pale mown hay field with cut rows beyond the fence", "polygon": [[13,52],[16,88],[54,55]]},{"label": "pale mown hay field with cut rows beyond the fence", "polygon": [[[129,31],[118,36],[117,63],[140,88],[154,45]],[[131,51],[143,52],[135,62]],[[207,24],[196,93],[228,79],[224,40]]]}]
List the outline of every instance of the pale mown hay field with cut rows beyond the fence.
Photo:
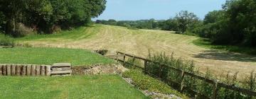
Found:
[{"label": "pale mown hay field with cut rows beyond the fence", "polygon": [[223,71],[239,72],[238,77],[247,76],[256,69],[256,58],[247,54],[213,50],[193,44],[198,37],[178,35],[164,30],[129,30],[111,25],[94,25],[77,28],[54,35],[31,35],[18,42],[43,47],[72,47],[87,50],[107,48],[109,54],[116,51],[146,57],[151,52],[174,52],[175,57],[194,60],[200,71],[210,69],[214,74]]}]

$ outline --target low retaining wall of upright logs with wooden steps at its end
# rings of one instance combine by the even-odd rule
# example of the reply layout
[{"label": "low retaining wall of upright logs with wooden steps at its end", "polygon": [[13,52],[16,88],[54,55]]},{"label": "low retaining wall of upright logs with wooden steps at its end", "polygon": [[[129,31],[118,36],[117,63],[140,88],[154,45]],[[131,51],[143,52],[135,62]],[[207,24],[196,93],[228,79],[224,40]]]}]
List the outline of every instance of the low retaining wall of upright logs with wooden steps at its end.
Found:
[{"label": "low retaining wall of upright logs with wooden steps at its end", "polygon": [[70,76],[71,64],[0,64],[0,76]]}]

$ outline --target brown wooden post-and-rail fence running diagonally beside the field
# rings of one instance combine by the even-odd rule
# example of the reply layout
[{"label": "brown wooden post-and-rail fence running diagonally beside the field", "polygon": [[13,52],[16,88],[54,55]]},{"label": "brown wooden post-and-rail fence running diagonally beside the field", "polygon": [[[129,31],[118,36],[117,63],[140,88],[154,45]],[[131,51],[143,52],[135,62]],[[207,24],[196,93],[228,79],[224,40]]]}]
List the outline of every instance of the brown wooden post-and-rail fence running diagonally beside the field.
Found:
[{"label": "brown wooden post-and-rail fence running diagonally beside the field", "polygon": [[[119,59],[119,57],[122,57],[122,59]],[[127,57],[132,58],[132,63],[129,63],[129,62],[126,62],[126,61],[125,61],[125,59],[126,59]],[[136,67],[138,67],[138,68],[140,68],[140,69],[143,69],[145,73],[147,73],[147,70],[146,70],[147,64],[148,64],[149,62],[152,62],[152,61],[149,60],[149,59],[144,59],[144,58],[142,58],[142,57],[136,57],[136,56],[134,56],[134,55],[125,54],[125,53],[123,53],[123,52],[117,52],[117,55],[116,55],[116,57],[115,57],[114,59],[116,59],[118,62],[122,62],[123,66],[126,66],[126,64],[129,64],[130,66],[132,65],[132,66],[134,66],[134,67],[136,66]],[[142,66],[137,66],[136,64],[134,64],[134,60],[135,60],[135,59],[142,60],[142,61],[144,62],[144,67],[142,67]],[[159,76],[160,76],[160,75],[161,75],[161,71],[163,71],[163,70],[161,69],[161,67],[167,66],[167,65],[166,65],[166,64],[157,63],[157,62],[153,62],[153,63],[159,64],[159,67],[160,67],[160,68],[159,68],[159,70],[157,70],[157,71],[159,71]],[[255,92],[255,91],[250,91],[250,90],[245,89],[245,88],[239,88],[239,87],[231,86],[231,85],[228,85],[228,84],[225,84],[225,83],[220,83],[220,82],[214,81],[214,80],[212,80],[212,79],[205,78],[205,77],[203,77],[203,76],[198,76],[198,75],[196,75],[196,74],[191,74],[191,73],[189,73],[189,72],[187,72],[187,71],[183,71],[183,70],[181,70],[181,69],[176,69],[176,68],[174,68],[174,67],[172,67],[172,66],[168,66],[168,67],[169,67],[170,69],[172,69],[172,70],[174,70],[174,71],[177,71],[177,72],[179,72],[179,73],[181,74],[181,81],[179,81],[179,82],[169,81],[170,83],[176,83],[176,84],[178,84],[178,85],[179,85],[179,90],[178,90],[178,91],[181,91],[181,92],[182,92],[184,89],[186,89],[186,90],[188,90],[188,91],[192,91],[192,92],[195,93],[195,94],[202,95],[201,93],[198,93],[197,91],[194,91],[193,89],[184,86],[183,83],[184,83],[184,78],[185,78],[185,76],[191,76],[192,78],[198,78],[198,79],[200,79],[200,80],[202,80],[202,81],[205,81],[206,83],[210,83],[210,84],[213,85],[213,97],[212,97],[213,99],[216,99],[216,98],[217,98],[217,96],[218,96],[218,89],[219,89],[219,88],[226,88],[226,89],[229,89],[229,90],[232,90],[232,91],[236,91],[236,92],[243,93],[243,94],[245,94],[245,95],[256,96],[256,92]],[[206,97],[206,98],[208,98],[206,95],[203,95],[203,96]]]}]

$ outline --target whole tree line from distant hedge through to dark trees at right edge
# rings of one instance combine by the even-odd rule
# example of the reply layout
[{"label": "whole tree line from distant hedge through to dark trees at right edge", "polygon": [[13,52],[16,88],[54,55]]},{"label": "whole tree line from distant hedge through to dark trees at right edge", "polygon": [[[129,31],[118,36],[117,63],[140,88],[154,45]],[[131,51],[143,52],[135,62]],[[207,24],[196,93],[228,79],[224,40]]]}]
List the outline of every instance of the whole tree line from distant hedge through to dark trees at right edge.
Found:
[{"label": "whole tree line from distant hedge through to dark trees at right edge", "polygon": [[172,30],[176,33],[193,33],[210,39],[218,45],[256,47],[256,1],[228,0],[221,10],[210,11],[203,20],[194,13],[181,11],[164,21],[104,21],[96,23],[119,25],[128,28]]}]

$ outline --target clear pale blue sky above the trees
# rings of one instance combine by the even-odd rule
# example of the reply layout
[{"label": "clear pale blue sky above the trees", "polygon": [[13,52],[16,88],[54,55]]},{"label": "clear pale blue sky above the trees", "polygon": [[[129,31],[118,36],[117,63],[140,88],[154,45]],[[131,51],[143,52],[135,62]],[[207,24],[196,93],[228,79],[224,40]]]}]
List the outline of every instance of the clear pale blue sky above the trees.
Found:
[{"label": "clear pale blue sky above the trees", "polygon": [[209,11],[220,10],[222,4],[225,0],[107,0],[105,11],[93,20],[164,20],[179,11],[193,12],[203,19]]}]

